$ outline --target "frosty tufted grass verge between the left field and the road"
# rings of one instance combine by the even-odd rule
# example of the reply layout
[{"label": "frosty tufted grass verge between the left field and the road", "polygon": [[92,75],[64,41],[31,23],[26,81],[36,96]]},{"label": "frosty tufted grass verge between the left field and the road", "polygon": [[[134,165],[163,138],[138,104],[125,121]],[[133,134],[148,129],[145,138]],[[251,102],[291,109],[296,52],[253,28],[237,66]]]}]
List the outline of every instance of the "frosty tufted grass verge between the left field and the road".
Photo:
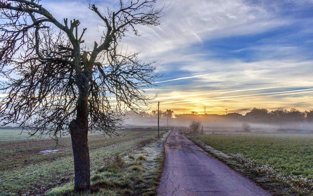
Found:
[{"label": "frosty tufted grass verge between the left field and the road", "polygon": [[129,154],[116,154],[114,163],[91,174],[90,193],[75,194],[71,182],[47,195],[156,195],[164,165],[164,142],[169,133]]}]

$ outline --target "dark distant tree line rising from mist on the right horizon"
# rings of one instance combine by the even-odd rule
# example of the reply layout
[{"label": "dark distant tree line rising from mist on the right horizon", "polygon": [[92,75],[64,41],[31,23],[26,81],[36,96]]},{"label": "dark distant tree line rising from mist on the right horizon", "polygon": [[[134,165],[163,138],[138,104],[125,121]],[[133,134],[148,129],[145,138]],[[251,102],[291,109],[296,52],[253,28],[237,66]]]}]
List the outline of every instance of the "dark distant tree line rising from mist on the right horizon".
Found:
[{"label": "dark distant tree line rising from mist on the right horizon", "polygon": [[276,110],[269,111],[265,108],[253,108],[246,114],[246,119],[250,122],[262,123],[313,123],[313,110],[301,112],[295,108],[291,108],[290,110],[278,108]]}]

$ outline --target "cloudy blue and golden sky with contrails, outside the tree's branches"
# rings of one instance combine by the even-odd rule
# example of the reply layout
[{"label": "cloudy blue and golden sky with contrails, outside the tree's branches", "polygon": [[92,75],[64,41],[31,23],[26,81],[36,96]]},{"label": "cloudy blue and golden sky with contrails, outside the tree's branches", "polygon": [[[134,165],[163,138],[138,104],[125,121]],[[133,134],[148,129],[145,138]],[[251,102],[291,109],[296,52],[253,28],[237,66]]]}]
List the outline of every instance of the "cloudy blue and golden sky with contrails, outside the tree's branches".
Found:
[{"label": "cloudy blue and golden sky with contrails, outside the tree's branches", "polygon": [[[102,12],[118,5],[91,3]],[[42,4],[59,21],[79,19],[87,47],[100,40],[101,20],[87,1]],[[122,43],[158,65],[162,77],[146,90],[158,92],[161,110],[313,109],[313,0],[159,0],[156,7],[165,14],[161,25],[140,26],[140,37],[129,32]]]}]

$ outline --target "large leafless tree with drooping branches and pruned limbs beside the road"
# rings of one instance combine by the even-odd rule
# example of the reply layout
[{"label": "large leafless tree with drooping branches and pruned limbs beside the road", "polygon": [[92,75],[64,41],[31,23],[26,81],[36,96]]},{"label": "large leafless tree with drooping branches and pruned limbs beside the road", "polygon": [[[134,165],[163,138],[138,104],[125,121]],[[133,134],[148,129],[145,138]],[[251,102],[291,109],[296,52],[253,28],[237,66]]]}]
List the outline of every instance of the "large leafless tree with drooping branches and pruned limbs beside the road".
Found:
[{"label": "large leafless tree with drooping branches and pruned limbs beside the road", "polygon": [[102,14],[89,8],[105,28],[93,48],[83,45],[80,21],[59,22],[40,0],[0,0],[0,116],[31,135],[55,139],[70,134],[74,152],[75,191],[90,189],[88,131],[118,136],[126,108],[143,110],[155,96],[146,96],[155,77],[153,63],[138,54],[119,53],[126,31],[136,25],[159,25],[156,0],[120,1]]}]

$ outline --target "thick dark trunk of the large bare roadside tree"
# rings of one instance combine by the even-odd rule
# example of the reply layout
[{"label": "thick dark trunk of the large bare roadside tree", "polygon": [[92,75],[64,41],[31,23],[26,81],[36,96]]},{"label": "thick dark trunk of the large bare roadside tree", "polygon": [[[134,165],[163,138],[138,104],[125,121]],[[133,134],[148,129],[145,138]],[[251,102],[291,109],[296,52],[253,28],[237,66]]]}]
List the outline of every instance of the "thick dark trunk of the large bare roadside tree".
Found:
[{"label": "thick dark trunk of the large bare roadside tree", "polygon": [[83,73],[76,78],[79,86],[77,116],[69,124],[74,154],[74,191],[90,191],[90,157],[88,148],[88,88],[89,82]]}]

